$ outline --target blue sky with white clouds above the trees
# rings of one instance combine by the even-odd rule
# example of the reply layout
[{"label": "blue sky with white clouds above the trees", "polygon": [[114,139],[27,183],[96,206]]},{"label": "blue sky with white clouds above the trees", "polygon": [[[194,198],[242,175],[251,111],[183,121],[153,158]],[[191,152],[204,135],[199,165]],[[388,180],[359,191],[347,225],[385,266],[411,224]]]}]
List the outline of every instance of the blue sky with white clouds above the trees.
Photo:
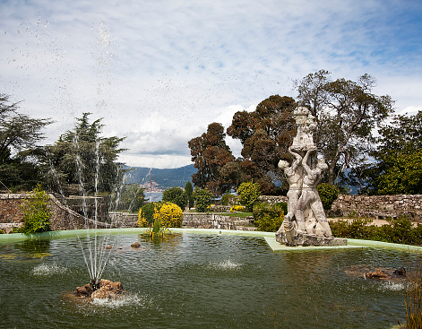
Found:
[{"label": "blue sky with white clouds above the trees", "polygon": [[[0,93],[51,118],[55,143],[90,112],[129,166],[192,163],[212,122],[320,69],[375,77],[398,114],[422,109],[420,0],[0,0]],[[241,145],[227,139],[235,156]]]}]

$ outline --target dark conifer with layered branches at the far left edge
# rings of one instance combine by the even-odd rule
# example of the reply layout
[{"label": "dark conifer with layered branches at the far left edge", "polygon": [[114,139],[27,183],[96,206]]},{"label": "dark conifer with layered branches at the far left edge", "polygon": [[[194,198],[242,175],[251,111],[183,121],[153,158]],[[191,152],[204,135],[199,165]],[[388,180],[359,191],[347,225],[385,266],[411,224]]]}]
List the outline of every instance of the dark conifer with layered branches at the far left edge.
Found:
[{"label": "dark conifer with layered branches at the far left edge", "polygon": [[41,130],[52,121],[19,113],[19,104],[0,93],[0,181],[9,188],[32,188],[41,177],[30,150],[44,138]]}]

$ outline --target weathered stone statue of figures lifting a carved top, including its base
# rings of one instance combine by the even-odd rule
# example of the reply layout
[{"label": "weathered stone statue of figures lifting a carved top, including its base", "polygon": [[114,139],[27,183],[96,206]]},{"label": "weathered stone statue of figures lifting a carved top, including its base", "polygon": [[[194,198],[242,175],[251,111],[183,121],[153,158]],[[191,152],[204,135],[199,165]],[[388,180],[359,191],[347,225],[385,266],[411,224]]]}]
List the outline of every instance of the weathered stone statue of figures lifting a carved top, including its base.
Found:
[{"label": "weathered stone statue of figures lifting a carved top, including its base", "polygon": [[284,170],[289,183],[288,213],[276,233],[276,239],[288,246],[346,245],[347,239],[332,238],[332,230],[316,189],[328,166],[323,159],[318,159],[314,144],[314,117],[307,108],[302,107],[293,114],[297,135],[289,147],[289,153],[294,160],[291,166],[286,160],[279,162],[279,168]]}]

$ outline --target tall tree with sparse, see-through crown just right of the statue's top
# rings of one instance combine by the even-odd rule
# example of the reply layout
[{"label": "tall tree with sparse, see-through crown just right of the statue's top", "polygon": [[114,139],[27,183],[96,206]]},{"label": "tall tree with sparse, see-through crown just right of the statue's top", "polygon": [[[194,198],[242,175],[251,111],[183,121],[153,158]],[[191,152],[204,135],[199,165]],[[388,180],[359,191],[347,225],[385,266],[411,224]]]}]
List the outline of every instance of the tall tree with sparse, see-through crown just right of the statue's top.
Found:
[{"label": "tall tree with sparse, see-through crown just right of the statue's top", "polygon": [[296,82],[298,103],[316,118],[315,142],[327,161],[328,183],[363,160],[374,142],[373,130],[392,113],[390,96],[372,93],[375,79],[364,74],[357,82],[337,79],[321,70]]}]

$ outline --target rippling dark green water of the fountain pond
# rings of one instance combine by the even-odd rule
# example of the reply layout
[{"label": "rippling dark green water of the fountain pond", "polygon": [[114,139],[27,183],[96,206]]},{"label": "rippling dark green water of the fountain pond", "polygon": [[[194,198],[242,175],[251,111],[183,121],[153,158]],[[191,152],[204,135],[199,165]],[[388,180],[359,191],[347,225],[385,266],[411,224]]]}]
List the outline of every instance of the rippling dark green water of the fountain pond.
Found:
[{"label": "rippling dark green water of the fountain pond", "polygon": [[263,238],[217,234],[109,242],[102,277],[128,294],[85,303],[66,294],[90,281],[77,238],[0,242],[0,327],[390,328],[405,315],[405,283],[348,271],[414,262],[383,248],[273,253]]}]

